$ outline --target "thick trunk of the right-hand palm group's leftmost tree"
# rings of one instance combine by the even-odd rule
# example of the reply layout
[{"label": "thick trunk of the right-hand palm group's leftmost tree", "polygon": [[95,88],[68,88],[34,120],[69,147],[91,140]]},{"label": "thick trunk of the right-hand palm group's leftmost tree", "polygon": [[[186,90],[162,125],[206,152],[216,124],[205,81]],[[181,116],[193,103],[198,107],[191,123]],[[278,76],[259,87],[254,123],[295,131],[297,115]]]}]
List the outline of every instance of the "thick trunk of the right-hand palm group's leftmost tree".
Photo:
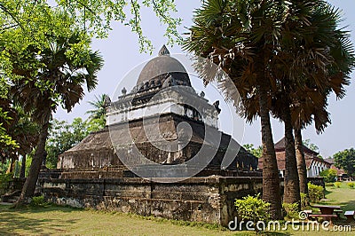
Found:
[{"label": "thick trunk of the right-hand palm group's leftmost tree", "polygon": [[272,138],[272,126],[267,106],[267,93],[263,84],[259,85],[259,108],[263,142],[263,199],[271,204],[272,219],[281,219],[281,194],[279,169]]}]

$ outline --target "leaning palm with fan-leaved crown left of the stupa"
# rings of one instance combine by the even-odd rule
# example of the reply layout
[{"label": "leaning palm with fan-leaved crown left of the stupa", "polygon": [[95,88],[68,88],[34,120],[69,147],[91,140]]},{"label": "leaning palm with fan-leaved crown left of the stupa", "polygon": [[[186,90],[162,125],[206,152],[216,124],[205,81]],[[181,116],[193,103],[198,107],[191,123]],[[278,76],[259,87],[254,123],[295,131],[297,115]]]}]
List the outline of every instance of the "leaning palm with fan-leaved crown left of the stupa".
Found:
[{"label": "leaning palm with fan-leaved crown left of the stupa", "polygon": [[[41,127],[19,203],[35,192],[51,114],[59,104],[70,112],[83,98],[83,84],[86,83],[89,91],[96,87],[96,74],[103,65],[99,52],[91,51],[89,46],[84,51],[75,51],[76,45],[86,43],[83,32],[73,30],[71,35],[47,35],[47,38],[45,45],[30,44],[12,54],[12,73],[20,75],[12,81],[12,96],[25,112],[33,111],[32,118]],[[73,51],[75,55],[70,54]],[[25,61],[21,61],[22,55],[26,55]]]}]

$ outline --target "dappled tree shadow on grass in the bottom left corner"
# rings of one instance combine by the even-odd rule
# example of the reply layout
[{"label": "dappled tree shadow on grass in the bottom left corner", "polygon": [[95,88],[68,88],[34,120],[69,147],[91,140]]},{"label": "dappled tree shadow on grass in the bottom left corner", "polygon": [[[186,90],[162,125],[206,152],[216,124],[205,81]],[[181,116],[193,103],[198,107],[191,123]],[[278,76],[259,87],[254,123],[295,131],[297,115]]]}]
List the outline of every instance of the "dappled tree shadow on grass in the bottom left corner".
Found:
[{"label": "dappled tree shadow on grass in the bottom left corner", "polygon": [[[76,220],[60,220],[58,218],[33,218],[27,214],[43,213],[50,211],[72,212],[78,211],[77,208],[67,208],[58,206],[10,208],[0,206],[0,235],[24,235],[26,234],[45,234],[60,232],[60,227],[68,224],[75,224]],[[43,231],[44,229],[45,232]],[[19,233],[20,232],[20,233]]]}]

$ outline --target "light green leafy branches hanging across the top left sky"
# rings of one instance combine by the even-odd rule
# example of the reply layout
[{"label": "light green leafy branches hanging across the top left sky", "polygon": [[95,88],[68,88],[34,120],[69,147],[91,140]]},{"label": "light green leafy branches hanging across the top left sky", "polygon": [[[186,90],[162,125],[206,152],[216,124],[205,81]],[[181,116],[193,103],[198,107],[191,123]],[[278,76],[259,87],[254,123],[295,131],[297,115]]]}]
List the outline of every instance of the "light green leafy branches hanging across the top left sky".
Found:
[{"label": "light green leafy branches hanging across the top left sky", "polygon": [[[2,16],[0,24],[3,31],[20,28],[22,35],[31,35],[37,42],[43,42],[45,34],[52,34],[53,28],[58,28],[63,32],[71,27],[81,28],[91,36],[106,37],[108,31],[111,30],[111,25],[118,21],[130,27],[131,31],[138,35],[140,51],[151,51],[152,43],[143,35],[141,28],[141,6],[151,8],[154,15],[165,26],[168,43],[174,43],[180,39],[177,26],[181,20],[171,17],[172,12],[177,12],[174,0],[145,0],[143,2],[138,2],[138,0],[99,2],[4,0],[0,6]],[[52,9],[65,15],[66,19],[63,19],[63,16],[52,16],[50,13]]]}]

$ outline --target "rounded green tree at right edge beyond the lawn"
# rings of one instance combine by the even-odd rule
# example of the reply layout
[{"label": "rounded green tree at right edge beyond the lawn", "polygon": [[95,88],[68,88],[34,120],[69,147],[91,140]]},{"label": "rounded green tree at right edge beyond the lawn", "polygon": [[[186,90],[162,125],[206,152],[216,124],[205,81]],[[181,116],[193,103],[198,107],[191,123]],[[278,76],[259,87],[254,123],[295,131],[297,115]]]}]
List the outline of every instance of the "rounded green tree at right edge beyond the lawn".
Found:
[{"label": "rounded green tree at right edge beyond the lawn", "polygon": [[335,166],[344,169],[350,176],[355,173],[355,149],[345,149],[333,155]]}]

